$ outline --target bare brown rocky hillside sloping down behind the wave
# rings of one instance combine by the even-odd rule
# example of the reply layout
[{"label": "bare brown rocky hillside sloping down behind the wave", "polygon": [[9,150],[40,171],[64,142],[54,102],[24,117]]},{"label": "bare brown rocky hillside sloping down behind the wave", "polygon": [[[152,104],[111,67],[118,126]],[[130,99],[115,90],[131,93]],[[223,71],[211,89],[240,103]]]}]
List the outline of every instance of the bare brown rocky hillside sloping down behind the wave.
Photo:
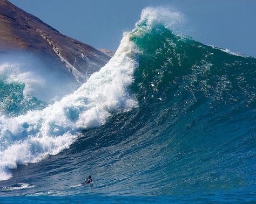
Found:
[{"label": "bare brown rocky hillside sloping down behind the wave", "polygon": [[39,18],[0,0],[0,52],[13,50],[28,51],[68,68],[80,83],[110,59],[110,55],[64,36]]}]

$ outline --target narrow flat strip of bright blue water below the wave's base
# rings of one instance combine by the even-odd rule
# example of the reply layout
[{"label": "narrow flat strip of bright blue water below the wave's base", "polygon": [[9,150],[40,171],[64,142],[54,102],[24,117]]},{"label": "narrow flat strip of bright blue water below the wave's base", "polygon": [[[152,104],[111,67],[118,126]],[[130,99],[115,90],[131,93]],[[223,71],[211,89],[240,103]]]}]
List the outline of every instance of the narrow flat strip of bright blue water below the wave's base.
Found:
[{"label": "narrow flat strip of bright blue water below the wave's base", "polygon": [[0,198],[1,203],[254,203],[254,195],[205,194],[185,196],[11,196]]}]

